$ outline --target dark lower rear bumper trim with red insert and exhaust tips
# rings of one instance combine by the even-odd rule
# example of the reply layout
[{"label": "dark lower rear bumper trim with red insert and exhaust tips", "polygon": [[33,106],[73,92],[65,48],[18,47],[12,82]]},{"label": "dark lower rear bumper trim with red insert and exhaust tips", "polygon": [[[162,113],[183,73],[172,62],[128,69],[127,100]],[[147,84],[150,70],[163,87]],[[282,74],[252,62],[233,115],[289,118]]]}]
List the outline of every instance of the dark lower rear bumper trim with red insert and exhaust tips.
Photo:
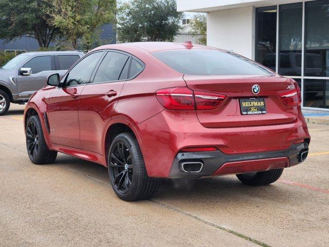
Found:
[{"label": "dark lower rear bumper trim with red insert and exhaust tips", "polygon": [[[287,168],[302,163],[307,152],[306,143],[296,144],[285,150],[261,153],[181,152],[175,157],[170,178],[239,174]],[[193,172],[184,169],[184,166],[192,163],[202,165],[200,165],[200,169]]]}]

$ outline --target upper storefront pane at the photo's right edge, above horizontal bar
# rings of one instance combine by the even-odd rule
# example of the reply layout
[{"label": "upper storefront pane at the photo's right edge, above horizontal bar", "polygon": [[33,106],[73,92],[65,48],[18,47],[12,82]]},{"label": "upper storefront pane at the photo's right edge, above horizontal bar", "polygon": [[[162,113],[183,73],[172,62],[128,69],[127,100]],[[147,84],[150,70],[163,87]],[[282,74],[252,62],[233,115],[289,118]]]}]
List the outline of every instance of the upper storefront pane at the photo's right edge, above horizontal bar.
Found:
[{"label": "upper storefront pane at the photo's right edge, above horizontal bar", "polygon": [[304,76],[329,76],[329,1],[305,3]]}]

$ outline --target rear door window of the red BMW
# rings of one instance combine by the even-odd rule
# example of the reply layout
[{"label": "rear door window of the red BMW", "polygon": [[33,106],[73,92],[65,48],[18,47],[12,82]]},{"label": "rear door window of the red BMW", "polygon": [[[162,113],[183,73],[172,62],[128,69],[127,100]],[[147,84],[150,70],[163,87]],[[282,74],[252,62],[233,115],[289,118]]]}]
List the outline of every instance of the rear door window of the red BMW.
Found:
[{"label": "rear door window of the red BMW", "polygon": [[119,80],[128,56],[118,52],[107,52],[99,65],[93,83]]}]

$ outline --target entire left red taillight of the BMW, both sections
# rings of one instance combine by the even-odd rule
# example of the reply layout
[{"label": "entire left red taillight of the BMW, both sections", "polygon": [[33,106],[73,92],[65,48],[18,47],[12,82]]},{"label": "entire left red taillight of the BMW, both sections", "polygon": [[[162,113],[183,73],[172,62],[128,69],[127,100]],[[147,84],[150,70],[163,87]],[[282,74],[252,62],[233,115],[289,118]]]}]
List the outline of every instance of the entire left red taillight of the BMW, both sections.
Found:
[{"label": "entire left red taillight of the BMW, both sections", "polygon": [[168,110],[212,110],[219,107],[226,95],[207,92],[193,92],[187,87],[171,87],[155,92],[159,103]]}]

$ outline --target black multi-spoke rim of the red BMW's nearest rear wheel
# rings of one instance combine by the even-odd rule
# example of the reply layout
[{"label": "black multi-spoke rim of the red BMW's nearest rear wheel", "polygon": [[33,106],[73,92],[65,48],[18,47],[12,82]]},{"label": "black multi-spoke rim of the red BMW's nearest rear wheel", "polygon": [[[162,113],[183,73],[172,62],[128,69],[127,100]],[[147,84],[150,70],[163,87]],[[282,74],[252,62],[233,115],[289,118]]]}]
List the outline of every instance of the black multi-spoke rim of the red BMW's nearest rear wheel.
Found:
[{"label": "black multi-spoke rim of the red BMW's nearest rear wheel", "polygon": [[109,157],[111,180],[121,194],[129,191],[133,180],[133,158],[123,142],[117,142]]}]

